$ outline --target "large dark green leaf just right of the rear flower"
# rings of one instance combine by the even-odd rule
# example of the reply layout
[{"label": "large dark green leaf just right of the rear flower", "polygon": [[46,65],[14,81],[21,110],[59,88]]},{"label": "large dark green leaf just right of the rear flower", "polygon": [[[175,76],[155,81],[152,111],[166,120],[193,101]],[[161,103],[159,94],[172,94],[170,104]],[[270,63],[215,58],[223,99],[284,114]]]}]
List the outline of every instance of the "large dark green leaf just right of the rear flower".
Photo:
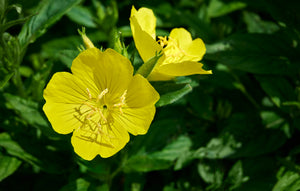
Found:
[{"label": "large dark green leaf just right of the rear flower", "polygon": [[[221,62],[231,69],[255,74],[295,74],[300,67],[297,50],[292,40],[284,33],[236,34],[217,43],[219,50],[208,52],[205,58]],[[212,50],[210,50],[212,51]]]}]

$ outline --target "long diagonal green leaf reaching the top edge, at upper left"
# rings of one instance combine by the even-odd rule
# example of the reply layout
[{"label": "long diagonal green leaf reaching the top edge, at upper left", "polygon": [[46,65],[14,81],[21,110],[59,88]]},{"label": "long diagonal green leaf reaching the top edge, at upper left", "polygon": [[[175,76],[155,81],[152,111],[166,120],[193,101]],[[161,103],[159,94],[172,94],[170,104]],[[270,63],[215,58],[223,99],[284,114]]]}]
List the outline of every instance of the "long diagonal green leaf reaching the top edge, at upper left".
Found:
[{"label": "long diagonal green leaf reaching the top edge, at upper left", "polygon": [[[81,0],[42,1],[37,7],[38,14],[31,17],[22,27],[19,34],[21,46],[27,46],[43,35],[47,28],[58,21],[70,8],[80,3]],[[59,29],[58,29],[59,30]]]}]

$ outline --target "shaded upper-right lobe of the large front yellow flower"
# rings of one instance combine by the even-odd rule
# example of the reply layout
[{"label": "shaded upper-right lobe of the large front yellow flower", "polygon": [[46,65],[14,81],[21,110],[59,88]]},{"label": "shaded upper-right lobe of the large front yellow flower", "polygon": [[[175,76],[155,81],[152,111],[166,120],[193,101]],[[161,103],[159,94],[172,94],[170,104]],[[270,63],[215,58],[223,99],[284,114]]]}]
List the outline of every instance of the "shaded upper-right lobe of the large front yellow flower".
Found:
[{"label": "shaded upper-right lobe of the large front yellow flower", "polygon": [[146,78],[137,74],[128,86],[126,104],[130,108],[140,108],[154,105],[159,100],[159,94]]}]

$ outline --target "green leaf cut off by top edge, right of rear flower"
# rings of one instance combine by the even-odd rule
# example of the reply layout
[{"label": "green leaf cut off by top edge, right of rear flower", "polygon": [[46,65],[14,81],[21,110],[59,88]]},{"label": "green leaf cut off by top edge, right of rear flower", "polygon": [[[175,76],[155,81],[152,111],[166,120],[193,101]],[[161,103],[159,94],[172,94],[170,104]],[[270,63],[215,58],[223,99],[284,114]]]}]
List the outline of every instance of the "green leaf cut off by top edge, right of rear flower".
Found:
[{"label": "green leaf cut off by top edge, right of rear flower", "polygon": [[211,0],[207,8],[207,13],[210,18],[214,18],[243,9],[244,7],[246,7],[246,4],[238,1],[223,3],[220,0]]}]

